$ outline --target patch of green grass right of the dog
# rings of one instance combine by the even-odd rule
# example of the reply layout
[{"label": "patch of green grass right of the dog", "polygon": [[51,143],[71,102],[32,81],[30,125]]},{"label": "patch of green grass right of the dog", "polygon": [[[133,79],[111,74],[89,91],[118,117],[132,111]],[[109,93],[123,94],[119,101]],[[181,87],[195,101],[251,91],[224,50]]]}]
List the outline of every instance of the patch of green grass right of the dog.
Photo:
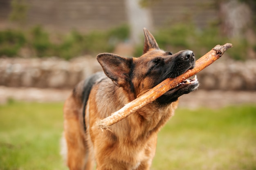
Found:
[{"label": "patch of green grass right of the dog", "polygon": [[153,170],[256,170],[256,106],[178,109],[160,131]]}]

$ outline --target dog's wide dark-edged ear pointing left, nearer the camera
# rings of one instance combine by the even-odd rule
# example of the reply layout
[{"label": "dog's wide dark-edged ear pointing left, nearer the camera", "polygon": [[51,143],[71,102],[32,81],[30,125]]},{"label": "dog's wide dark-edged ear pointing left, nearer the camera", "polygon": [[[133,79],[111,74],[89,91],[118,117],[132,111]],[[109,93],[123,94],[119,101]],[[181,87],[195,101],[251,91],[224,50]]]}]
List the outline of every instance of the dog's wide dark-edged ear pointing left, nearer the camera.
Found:
[{"label": "dog's wide dark-edged ear pointing left, nearer the camera", "polygon": [[101,64],[104,73],[117,86],[127,85],[130,79],[131,58],[125,58],[111,53],[101,53],[97,55],[97,60]]}]

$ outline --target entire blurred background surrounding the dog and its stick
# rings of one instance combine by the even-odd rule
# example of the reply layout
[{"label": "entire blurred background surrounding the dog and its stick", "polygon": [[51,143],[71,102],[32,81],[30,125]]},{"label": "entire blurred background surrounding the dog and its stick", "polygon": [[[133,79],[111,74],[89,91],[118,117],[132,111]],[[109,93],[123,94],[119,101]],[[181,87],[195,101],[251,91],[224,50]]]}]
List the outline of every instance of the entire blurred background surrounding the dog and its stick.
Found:
[{"label": "entire blurred background surrounding the dog and its stick", "polygon": [[144,27],[197,59],[233,44],[181,97],[153,169],[256,169],[255,0],[0,0],[0,170],[63,169],[63,102],[101,71],[97,54],[139,57]]}]

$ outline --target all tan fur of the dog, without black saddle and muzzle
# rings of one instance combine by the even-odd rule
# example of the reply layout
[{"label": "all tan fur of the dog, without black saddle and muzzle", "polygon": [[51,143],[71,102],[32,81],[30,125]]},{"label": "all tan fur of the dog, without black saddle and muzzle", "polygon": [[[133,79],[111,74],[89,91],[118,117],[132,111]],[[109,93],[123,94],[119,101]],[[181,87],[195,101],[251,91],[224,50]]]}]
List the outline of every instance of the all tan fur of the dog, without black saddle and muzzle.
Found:
[{"label": "all tan fur of the dog, without black saddle and muzzle", "polygon": [[70,170],[92,170],[94,162],[97,170],[149,170],[155,155],[157,132],[174,114],[178,100],[164,106],[152,102],[112,125],[110,130],[92,128],[97,121],[108,117],[155,86],[152,83],[155,78],[145,76],[149,69],[147,65],[166,52],[157,48],[157,43],[149,32],[145,32],[145,36],[144,55],[132,58],[132,63],[135,64],[131,80],[134,91],[126,81],[130,69],[126,64],[119,64],[122,66],[115,70],[113,66],[108,67],[110,59],[104,63],[99,60],[106,75],[108,69],[114,69],[114,73],[108,75],[114,78],[111,80],[99,77],[96,80],[90,91],[85,117],[82,114],[82,82],[65,102],[64,138],[67,144],[67,166]]}]

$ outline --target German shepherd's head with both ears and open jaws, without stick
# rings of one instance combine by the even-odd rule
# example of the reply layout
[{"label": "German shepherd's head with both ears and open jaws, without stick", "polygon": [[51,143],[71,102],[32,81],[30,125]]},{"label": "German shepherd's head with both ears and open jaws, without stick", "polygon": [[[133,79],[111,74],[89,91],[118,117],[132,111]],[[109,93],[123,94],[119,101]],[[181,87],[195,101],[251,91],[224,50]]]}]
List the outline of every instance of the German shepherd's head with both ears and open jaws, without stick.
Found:
[{"label": "German shepherd's head with both ears and open jaws, without stick", "polygon": [[[133,99],[153,88],[166,78],[175,78],[195,66],[193,51],[184,50],[175,54],[159,49],[153,35],[144,29],[143,55],[125,58],[111,53],[97,55],[105,74],[119,87],[124,88]],[[197,79],[190,79],[166,92],[156,102],[169,104],[183,94],[198,87]]]}]

